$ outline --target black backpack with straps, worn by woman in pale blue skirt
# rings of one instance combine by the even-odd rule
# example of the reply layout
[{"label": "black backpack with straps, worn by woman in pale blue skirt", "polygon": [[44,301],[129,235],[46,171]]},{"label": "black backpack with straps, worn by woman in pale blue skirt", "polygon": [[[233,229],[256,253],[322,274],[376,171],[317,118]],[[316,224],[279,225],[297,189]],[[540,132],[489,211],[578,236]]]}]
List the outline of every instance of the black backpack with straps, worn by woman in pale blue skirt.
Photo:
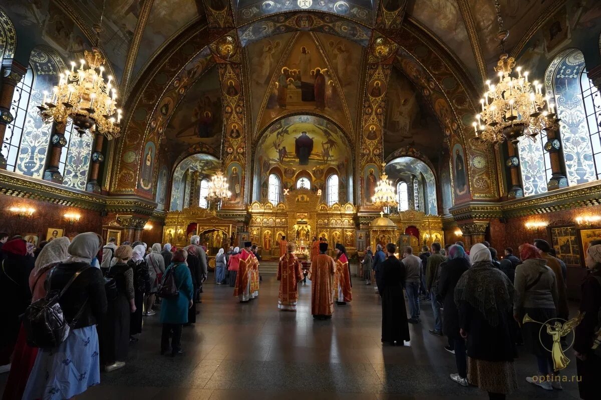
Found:
[{"label": "black backpack with straps, worn by woman in pale blue skirt", "polygon": [[82,272],[90,268],[90,266],[85,266],[74,273],[61,291],[52,290],[51,287],[52,281],[50,279],[52,278],[52,273],[55,268],[50,270],[50,273],[48,274],[48,290],[46,292],[46,297],[35,300],[35,302],[29,305],[25,310],[23,328],[25,329],[27,344],[30,347],[52,348],[63,343],[67,339],[67,336],[69,336],[72,327],[77,323],[78,318],[81,316],[85,305],[88,302],[86,299],[78,313],[75,315],[75,318],[73,318],[73,321],[71,321],[70,324],[67,323],[63,314],[63,309],[58,303],[58,300],[65,294],[73,281],[75,281]]}]

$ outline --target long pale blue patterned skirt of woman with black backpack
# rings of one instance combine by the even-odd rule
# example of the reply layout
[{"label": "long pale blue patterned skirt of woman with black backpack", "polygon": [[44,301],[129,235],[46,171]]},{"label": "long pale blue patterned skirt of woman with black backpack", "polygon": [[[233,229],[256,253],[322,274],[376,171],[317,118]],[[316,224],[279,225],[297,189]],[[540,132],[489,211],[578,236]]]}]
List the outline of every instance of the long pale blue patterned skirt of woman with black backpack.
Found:
[{"label": "long pale blue patterned skirt of woman with black backpack", "polygon": [[96,326],[72,330],[57,348],[40,349],[23,399],[70,399],[100,383]]}]

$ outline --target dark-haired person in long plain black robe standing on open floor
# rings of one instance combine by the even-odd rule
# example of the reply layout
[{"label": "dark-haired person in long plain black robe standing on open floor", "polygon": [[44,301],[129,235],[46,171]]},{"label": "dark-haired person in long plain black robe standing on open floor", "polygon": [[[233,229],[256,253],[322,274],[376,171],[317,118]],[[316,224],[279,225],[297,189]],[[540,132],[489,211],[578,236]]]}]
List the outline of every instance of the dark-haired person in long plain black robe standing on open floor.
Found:
[{"label": "dark-haired person in long plain black robe standing on open floor", "polygon": [[409,323],[403,295],[405,266],[394,256],[397,246],[394,243],[386,245],[388,258],[382,263],[382,281],[378,285],[382,297],[382,342],[398,346],[409,341]]}]

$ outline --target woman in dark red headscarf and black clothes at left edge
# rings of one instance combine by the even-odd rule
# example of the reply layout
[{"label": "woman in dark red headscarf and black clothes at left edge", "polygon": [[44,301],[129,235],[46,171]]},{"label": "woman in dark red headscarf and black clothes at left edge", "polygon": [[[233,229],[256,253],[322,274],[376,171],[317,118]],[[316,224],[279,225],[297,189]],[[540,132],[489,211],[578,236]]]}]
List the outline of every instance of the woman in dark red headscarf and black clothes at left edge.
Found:
[{"label": "woman in dark red headscarf and black clothes at left edge", "polygon": [[[31,304],[29,274],[34,258],[27,254],[27,243],[13,239],[2,246],[4,260],[0,267],[0,366],[8,365],[19,335],[19,315]],[[10,306],[9,306],[10,305]]]}]

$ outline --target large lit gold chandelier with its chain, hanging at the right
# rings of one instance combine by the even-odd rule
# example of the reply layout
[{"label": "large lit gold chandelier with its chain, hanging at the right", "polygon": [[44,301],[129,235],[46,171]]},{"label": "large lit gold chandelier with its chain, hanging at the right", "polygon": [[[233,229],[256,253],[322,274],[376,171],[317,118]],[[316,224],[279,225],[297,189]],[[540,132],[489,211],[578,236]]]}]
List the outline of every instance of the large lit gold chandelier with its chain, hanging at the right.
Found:
[{"label": "large lit gold chandelier with its chain, hanging at the right", "polygon": [[[472,125],[477,139],[496,145],[505,140],[517,140],[520,136],[534,139],[546,127],[547,116],[554,112],[549,98],[543,96],[542,83],[537,80],[530,82],[528,71],[522,73],[522,69],[517,67],[517,77],[511,76],[516,61],[505,52],[509,32],[503,29],[498,0],[495,0],[495,8],[499,23],[497,38],[502,49],[495,67],[499,82],[495,85],[490,80],[486,81],[488,90],[480,99],[482,111],[476,115]],[[545,103],[548,110],[543,111]]]}]

